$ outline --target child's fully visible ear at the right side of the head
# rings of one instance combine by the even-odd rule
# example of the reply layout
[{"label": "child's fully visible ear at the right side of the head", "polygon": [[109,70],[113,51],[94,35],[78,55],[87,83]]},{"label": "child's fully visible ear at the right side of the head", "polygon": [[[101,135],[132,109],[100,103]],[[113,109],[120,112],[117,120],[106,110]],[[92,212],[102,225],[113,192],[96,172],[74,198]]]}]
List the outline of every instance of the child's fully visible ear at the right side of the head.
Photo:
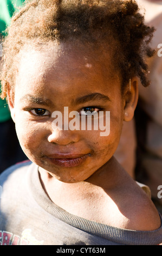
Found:
[{"label": "child's fully visible ear at the right side of the head", "polygon": [[131,121],[138,102],[138,78],[133,77],[125,91],[124,121]]}]

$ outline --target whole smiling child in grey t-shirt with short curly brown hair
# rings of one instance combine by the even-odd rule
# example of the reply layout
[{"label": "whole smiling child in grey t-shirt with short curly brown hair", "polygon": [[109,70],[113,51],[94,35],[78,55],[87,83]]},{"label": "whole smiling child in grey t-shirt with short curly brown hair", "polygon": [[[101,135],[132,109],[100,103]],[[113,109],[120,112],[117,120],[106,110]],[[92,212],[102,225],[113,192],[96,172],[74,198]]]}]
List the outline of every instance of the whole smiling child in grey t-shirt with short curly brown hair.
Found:
[{"label": "whole smiling child in grey t-shirt with short curly brown hair", "polygon": [[[113,157],[123,121],[133,118],[138,77],[148,85],[152,32],[132,0],[28,1],[12,18],[2,97],[31,162],[1,175],[2,245],[162,241],[161,216]],[[85,117],[92,129],[83,129]]]}]

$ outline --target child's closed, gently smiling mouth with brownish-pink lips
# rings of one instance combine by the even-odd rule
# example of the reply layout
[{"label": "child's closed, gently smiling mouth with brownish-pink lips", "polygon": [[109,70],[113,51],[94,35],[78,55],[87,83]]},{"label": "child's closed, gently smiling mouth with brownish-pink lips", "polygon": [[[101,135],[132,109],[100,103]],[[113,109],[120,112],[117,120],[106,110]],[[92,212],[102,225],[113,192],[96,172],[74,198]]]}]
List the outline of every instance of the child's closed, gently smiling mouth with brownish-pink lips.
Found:
[{"label": "child's closed, gently smiling mouth with brownish-pink lips", "polygon": [[90,154],[54,154],[45,156],[46,160],[50,161],[51,163],[55,164],[56,166],[61,167],[76,167],[82,164]]}]

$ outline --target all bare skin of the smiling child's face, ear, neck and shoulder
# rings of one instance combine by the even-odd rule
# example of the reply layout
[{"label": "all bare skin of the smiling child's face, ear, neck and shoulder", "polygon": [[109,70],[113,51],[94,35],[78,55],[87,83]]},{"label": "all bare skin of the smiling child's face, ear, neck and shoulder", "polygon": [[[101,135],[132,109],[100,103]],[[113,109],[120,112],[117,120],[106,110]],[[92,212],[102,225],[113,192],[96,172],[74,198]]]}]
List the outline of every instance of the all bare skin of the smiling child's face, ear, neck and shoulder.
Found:
[{"label": "all bare skin of the smiling child's face, ear, neck and shoulder", "polygon": [[[8,99],[22,149],[39,166],[44,190],[55,204],[88,220],[125,229],[158,229],[160,218],[153,203],[113,157],[122,122],[133,118],[137,79],[132,78],[131,90],[128,85],[121,95],[120,75],[113,75],[110,54],[105,65],[105,59],[98,57],[96,62],[101,52],[83,45],[43,50],[23,52],[15,98],[8,90]],[[96,93],[100,99],[93,97]],[[81,98],[88,100],[80,103]],[[92,106],[110,111],[109,136],[101,137],[94,130],[54,130],[51,113],[63,111],[64,106],[78,112]],[[70,166],[69,154],[72,159],[81,155],[85,159]]]}]

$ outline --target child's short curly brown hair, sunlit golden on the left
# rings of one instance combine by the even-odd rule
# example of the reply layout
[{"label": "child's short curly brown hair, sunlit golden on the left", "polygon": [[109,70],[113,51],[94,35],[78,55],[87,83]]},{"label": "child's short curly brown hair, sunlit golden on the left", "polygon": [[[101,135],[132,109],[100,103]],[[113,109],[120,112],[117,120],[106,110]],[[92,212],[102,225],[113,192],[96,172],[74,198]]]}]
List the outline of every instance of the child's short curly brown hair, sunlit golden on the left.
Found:
[{"label": "child's short curly brown hair, sunlit golden on the left", "polygon": [[1,97],[7,96],[8,84],[15,87],[17,56],[22,48],[31,42],[54,40],[111,45],[122,88],[132,76],[138,76],[147,87],[146,57],[154,54],[150,47],[153,32],[133,0],[27,0],[12,17],[3,42]]}]

